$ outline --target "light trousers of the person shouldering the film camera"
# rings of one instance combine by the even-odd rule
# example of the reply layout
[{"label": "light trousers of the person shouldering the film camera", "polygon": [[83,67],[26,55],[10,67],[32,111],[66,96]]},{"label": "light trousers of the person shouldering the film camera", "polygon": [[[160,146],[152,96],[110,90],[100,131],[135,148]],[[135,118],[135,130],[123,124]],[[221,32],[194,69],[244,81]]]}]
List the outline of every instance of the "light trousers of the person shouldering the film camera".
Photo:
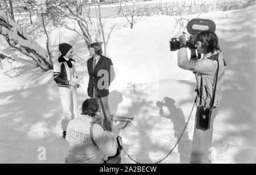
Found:
[{"label": "light trousers of the person shouldering the film camera", "polygon": [[[212,145],[213,135],[213,121],[218,113],[218,107],[212,110],[212,118],[210,121],[210,129],[203,131],[196,129],[196,117],[195,117],[195,129],[193,134],[192,151],[191,151],[191,164],[210,164],[210,147]],[[196,110],[196,116],[199,115],[199,110]]]}]

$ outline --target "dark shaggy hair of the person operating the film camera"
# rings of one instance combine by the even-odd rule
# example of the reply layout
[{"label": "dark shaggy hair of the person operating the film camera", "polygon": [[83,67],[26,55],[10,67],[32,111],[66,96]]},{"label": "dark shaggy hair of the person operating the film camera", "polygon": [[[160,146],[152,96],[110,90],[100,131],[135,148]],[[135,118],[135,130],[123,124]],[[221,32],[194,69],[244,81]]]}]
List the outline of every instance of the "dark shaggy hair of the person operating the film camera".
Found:
[{"label": "dark shaggy hair of the person operating the film camera", "polygon": [[207,49],[207,53],[220,50],[218,37],[214,32],[202,31],[196,34],[196,41],[202,42],[202,47]]}]

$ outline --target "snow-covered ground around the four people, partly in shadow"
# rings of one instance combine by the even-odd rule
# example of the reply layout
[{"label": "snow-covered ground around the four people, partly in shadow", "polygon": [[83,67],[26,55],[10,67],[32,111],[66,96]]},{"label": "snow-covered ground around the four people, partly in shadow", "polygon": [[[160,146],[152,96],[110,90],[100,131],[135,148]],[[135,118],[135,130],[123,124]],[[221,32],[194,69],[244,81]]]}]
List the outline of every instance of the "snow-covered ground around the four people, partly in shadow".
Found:
[{"label": "snow-covered ground around the four people, partly in shadow", "polygon": [[[214,121],[213,163],[256,163],[255,11],[252,6],[200,16],[216,23],[228,62],[223,99]],[[125,151],[141,163],[155,163],[172,149],[195,98],[193,74],[177,67],[177,52],[170,52],[169,40],[176,34],[171,33],[174,22],[173,16],[143,17],[130,30],[123,18],[104,20],[108,56],[117,73],[110,86],[110,110],[134,117],[119,134]],[[45,36],[38,35],[45,43]],[[80,36],[56,29],[51,38],[69,42],[86,59],[88,50]],[[88,75],[86,62],[80,58],[75,57],[79,75],[85,76],[79,89],[81,105],[88,97]],[[52,71],[42,73],[34,65],[5,59],[0,62],[0,72],[0,163],[64,163],[68,143],[61,138],[61,106]],[[156,103],[163,99],[166,106],[159,113]],[[180,144],[162,163],[189,163],[194,115],[195,111]],[[46,161],[38,160],[39,147],[46,148]],[[122,163],[133,162],[122,152]]]}]

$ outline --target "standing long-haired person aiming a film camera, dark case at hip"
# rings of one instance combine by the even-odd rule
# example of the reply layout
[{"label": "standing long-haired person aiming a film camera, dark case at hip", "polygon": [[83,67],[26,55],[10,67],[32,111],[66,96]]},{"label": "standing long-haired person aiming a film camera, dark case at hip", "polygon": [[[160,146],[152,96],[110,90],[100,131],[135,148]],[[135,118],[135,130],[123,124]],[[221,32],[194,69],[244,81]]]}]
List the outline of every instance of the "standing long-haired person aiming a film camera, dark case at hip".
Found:
[{"label": "standing long-haired person aiming a film camera, dark case at hip", "polygon": [[[188,59],[185,35],[179,36],[180,49],[177,56],[177,63],[181,69],[193,71],[196,75],[197,99],[196,106],[199,107],[201,91],[201,105],[208,107],[213,96],[213,89],[217,71],[217,59],[219,62],[218,79],[216,95],[213,102],[212,118],[210,129],[201,130],[196,128],[197,119],[195,119],[195,129],[193,134],[192,152],[190,163],[211,163],[209,158],[209,148],[212,143],[213,120],[218,113],[218,105],[221,101],[221,86],[224,82],[225,61],[218,46],[218,37],[210,31],[201,31],[195,37],[198,54],[203,54],[203,58],[198,59],[196,50],[191,49],[191,59]],[[201,85],[202,80],[202,86]],[[196,110],[196,116],[199,110]]]}]

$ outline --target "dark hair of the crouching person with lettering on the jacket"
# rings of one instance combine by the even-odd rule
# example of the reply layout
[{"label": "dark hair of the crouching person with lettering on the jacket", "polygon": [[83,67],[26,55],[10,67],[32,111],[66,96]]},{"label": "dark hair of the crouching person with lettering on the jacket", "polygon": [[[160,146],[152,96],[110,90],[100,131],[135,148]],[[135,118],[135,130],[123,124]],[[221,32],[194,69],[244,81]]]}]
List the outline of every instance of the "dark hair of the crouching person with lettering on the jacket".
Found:
[{"label": "dark hair of the crouching person with lettering on the jacket", "polygon": [[98,102],[96,99],[86,99],[82,103],[82,115],[87,115],[87,116],[95,116],[96,112],[98,111]]}]

